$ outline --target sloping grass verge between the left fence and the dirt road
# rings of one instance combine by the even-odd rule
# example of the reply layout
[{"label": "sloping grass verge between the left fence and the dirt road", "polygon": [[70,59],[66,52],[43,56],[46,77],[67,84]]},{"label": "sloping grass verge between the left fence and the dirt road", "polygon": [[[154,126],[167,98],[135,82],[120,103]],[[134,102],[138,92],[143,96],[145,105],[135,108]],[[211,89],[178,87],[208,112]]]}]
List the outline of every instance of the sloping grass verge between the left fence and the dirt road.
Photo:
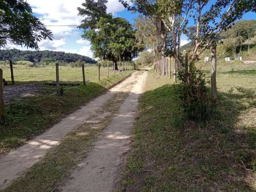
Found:
[{"label": "sloping grass verge between the left fence and the dirt road", "polygon": [[[122,81],[131,72],[127,71],[100,82],[88,82],[86,86],[63,86],[64,95],[41,94],[27,97],[6,105],[6,125],[0,125],[0,154],[24,144],[41,134],[63,116],[70,114],[80,105]],[[54,90],[54,86],[47,86]]]}]

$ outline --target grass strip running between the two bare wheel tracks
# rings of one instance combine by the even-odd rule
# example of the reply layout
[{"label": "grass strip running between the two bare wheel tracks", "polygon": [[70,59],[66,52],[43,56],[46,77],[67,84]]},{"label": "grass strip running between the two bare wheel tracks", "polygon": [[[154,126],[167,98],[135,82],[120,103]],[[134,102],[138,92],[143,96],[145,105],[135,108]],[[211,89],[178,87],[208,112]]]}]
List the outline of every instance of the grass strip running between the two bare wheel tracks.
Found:
[{"label": "grass strip running between the two bare wheel tracks", "polygon": [[[53,147],[39,162],[34,164],[23,176],[11,182],[2,192],[52,192],[62,183],[73,168],[87,155],[92,141],[106,128],[120,108],[128,92],[116,93],[106,101],[96,116],[76,127]],[[106,114],[106,115],[104,115]],[[99,119],[97,116],[104,116]],[[57,190],[56,190],[57,191]]]}]

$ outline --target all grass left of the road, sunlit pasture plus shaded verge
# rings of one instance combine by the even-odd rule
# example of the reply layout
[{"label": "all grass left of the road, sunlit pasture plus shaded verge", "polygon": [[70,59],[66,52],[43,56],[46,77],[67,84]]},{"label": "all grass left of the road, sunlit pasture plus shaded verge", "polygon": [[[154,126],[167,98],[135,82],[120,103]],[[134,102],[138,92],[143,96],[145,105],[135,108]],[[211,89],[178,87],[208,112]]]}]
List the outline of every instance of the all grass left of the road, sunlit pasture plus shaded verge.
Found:
[{"label": "all grass left of the road, sunlit pasture plus shaded verge", "polygon": [[[10,84],[10,68],[1,65],[4,78]],[[14,100],[6,104],[6,124],[0,125],[0,155],[10,152],[26,141],[41,134],[62,117],[70,114],[80,105],[102,94],[110,87],[124,80],[133,71],[124,71],[120,74],[113,70],[106,77],[107,68],[101,67],[101,80],[98,81],[98,67],[85,66],[86,86],[82,83],[82,69],[60,66],[60,82],[63,91],[62,96],[56,96],[55,66],[30,67],[27,65],[14,65],[15,85],[8,85],[9,89],[15,89],[17,84],[33,84],[43,90],[36,96],[27,96],[22,100]],[[76,84],[72,84],[76,82]],[[78,82],[78,83],[77,83]],[[69,84],[71,83],[71,84]]]}]

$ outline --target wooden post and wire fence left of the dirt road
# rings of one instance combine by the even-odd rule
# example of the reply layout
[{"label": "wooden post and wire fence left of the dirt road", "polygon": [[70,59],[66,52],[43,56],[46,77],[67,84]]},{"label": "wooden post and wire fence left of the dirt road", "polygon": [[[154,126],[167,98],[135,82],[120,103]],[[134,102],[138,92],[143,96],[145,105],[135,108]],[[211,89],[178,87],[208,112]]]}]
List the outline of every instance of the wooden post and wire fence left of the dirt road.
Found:
[{"label": "wooden post and wire fence left of the dirt road", "polygon": [[[86,86],[86,81],[89,81],[89,79],[86,79],[86,67],[84,64],[80,68],[74,68],[67,66],[60,66],[58,62],[55,64],[55,66],[52,66],[52,68],[40,68],[41,70],[38,70],[35,66],[28,68],[20,68],[17,69],[13,67],[12,61],[9,61],[10,66],[6,67],[4,66],[4,73],[3,70],[0,68],[0,123],[4,123],[4,86],[6,85],[7,81],[10,80],[12,84],[15,84],[17,82],[28,82],[28,84],[39,82],[39,81],[50,81],[55,82],[53,83],[56,85],[56,92],[57,95],[61,95],[60,86],[61,82],[78,82],[78,85],[82,82],[84,86]],[[108,78],[110,75],[114,75],[116,70],[113,68],[113,72],[110,74],[109,65],[107,67],[107,70],[100,70],[102,62],[98,62],[98,81],[101,80],[101,76],[104,76]],[[138,70],[140,67],[136,65],[134,62],[131,61],[123,61],[118,63],[118,71],[119,73],[129,71],[129,70]],[[122,70],[121,70],[122,67]],[[55,68],[55,70],[53,70]],[[34,70],[37,69],[37,70]],[[43,70],[44,69],[44,70]],[[51,70],[49,70],[51,69]],[[30,74],[20,74],[16,75],[15,73],[17,70],[26,70],[25,73],[30,71]],[[7,72],[8,71],[8,72]],[[47,72],[48,73],[44,73]],[[34,73],[33,73],[34,72]],[[54,75],[55,73],[55,75]],[[97,76],[97,71],[94,72],[95,76]],[[7,74],[10,74],[7,76]],[[5,76],[4,76],[5,75]],[[54,77],[55,76],[55,77]],[[22,78],[24,77],[24,78]],[[16,81],[14,81],[16,80]],[[6,83],[5,83],[6,82]],[[15,87],[13,87],[15,88]]]}]

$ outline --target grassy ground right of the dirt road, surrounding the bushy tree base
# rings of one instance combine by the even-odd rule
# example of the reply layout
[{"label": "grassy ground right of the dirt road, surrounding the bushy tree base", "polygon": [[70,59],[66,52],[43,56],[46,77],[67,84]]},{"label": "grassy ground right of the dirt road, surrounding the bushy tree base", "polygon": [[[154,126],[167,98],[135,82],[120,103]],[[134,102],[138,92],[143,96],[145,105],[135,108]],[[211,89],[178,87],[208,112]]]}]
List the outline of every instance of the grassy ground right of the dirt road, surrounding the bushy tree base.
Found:
[{"label": "grassy ground right of the dirt road, surrounding the bushy tree base", "polygon": [[150,71],[117,191],[255,191],[256,76],[248,71],[218,74],[217,112],[205,123],[186,120],[179,85]]}]

